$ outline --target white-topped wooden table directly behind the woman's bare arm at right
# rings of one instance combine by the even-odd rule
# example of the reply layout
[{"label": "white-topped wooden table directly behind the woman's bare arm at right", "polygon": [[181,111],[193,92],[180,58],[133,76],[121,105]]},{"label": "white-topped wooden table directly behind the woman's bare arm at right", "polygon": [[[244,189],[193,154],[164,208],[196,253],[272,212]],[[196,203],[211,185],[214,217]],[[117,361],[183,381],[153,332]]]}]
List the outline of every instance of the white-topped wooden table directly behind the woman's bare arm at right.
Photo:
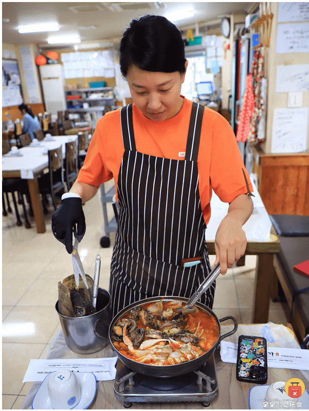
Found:
[{"label": "white-topped wooden table directly behind the woman's bare arm at right", "polygon": [[[264,207],[260,193],[253,182],[252,185],[253,194],[255,195],[252,200],[255,208],[248,221],[244,224],[243,230],[247,237],[245,255],[257,255],[255,301],[253,303],[252,323],[262,324],[267,323],[268,321],[274,253],[279,252],[280,241],[277,236],[271,234],[271,221],[269,215]],[[215,234],[220,222],[227,214],[229,205],[223,203],[214,193],[210,204],[211,217],[207,225],[205,237],[208,253],[213,255],[215,254]]]}]

